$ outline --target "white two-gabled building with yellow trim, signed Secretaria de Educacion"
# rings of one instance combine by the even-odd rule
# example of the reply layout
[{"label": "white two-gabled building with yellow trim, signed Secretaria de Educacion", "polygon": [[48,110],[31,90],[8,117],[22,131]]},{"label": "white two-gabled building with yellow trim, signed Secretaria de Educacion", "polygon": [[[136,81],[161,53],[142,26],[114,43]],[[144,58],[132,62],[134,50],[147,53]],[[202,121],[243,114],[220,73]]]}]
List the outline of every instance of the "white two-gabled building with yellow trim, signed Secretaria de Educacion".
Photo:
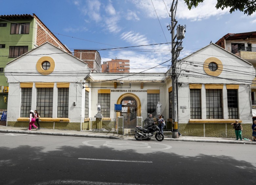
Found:
[{"label": "white two-gabled building with yellow trim, signed Secretaria de Educacion", "polygon": [[[236,119],[245,123],[249,134],[249,84],[255,77],[250,63],[210,44],[179,61],[177,72],[182,135],[233,137],[229,127]],[[46,43],[11,61],[5,75],[10,84],[9,126],[27,127],[24,121],[29,110],[37,109],[42,128],[82,130],[84,122],[97,114],[96,104],[100,103],[103,120],[122,115],[124,128],[131,129],[136,117],[156,117],[160,102],[167,129],[172,128],[169,71],[90,73],[83,61]],[[115,104],[122,104],[122,112],[115,112]]]}]

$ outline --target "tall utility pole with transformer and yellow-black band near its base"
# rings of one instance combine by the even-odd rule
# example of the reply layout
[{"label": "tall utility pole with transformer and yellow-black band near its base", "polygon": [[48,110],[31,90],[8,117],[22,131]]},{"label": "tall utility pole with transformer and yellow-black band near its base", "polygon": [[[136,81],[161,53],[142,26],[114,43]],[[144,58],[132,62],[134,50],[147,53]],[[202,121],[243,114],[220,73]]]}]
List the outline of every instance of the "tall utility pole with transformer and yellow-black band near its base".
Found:
[{"label": "tall utility pole with transformer and yellow-black band near its base", "polygon": [[[176,1],[176,2],[175,2]],[[167,26],[168,30],[171,30],[171,36],[172,36],[172,73],[171,73],[171,79],[172,79],[172,124],[173,124],[173,132],[172,132],[172,138],[178,138],[178,87],[177,87],[177,74],[176,74],[176,62],[177,58],[180,54],[180,51],[183,49],[181,47],[182,39],[184,38],[185,28],[183,26],[180,26],[177,28],[177,34],[175,35],[175,27],[178,23],[175,19],[175,13],[177,9],[178,0],[173,0],[172,6],[171,6],[171,25]],[[179,31],[178,31],[179,29]],[[175,42],[175,39],[177,38],[177,42]],[[178,40],[181,40],[178,42]]]}]

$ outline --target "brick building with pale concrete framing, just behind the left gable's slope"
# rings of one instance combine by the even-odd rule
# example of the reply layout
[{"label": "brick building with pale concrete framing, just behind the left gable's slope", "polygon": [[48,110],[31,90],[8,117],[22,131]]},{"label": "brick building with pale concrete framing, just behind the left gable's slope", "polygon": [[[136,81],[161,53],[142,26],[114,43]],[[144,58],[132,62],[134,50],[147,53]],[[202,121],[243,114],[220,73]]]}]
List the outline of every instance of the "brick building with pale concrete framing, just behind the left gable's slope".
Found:
[{"label": "brick building with pale concrete framing, just behind the left gable's slope", "polygon": [[92,72],[100,73],[101,58],[98,51],[74,49],[74,56],[87,63]]}]

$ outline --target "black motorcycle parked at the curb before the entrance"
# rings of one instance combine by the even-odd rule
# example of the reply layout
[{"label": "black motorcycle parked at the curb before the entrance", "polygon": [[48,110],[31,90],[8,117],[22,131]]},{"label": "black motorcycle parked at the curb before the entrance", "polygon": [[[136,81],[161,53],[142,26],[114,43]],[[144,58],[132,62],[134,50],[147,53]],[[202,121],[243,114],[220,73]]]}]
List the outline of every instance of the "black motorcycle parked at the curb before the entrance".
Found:
[{"label": "black motorcycle parked at the curb before the entrance", "polygon": [[142,139],[145,139],[145,138],[153,138],[155,132],[156,132],[155,138],[158,141],[162,141],[164,138],[163,134],[160,132],[160,128],[157,125],[155,125],[155,123],[151,124],[147,128],[142,128],[141,126],[136,126],[135,128],[136,130],[135,130],[134,137],[138,141],[141,141]]}]

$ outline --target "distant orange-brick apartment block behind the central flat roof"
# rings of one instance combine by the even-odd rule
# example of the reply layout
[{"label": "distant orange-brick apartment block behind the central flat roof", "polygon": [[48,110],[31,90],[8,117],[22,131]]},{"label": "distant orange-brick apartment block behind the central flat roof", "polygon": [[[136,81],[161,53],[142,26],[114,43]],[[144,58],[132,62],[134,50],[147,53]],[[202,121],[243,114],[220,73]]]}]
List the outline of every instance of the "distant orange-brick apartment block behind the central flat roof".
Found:
[{"label": "distant orange-brick apartment block behind the central flat roof", "polygon": [[129,73],[130,60],[111,59],[101,65],[102,73]]}]

